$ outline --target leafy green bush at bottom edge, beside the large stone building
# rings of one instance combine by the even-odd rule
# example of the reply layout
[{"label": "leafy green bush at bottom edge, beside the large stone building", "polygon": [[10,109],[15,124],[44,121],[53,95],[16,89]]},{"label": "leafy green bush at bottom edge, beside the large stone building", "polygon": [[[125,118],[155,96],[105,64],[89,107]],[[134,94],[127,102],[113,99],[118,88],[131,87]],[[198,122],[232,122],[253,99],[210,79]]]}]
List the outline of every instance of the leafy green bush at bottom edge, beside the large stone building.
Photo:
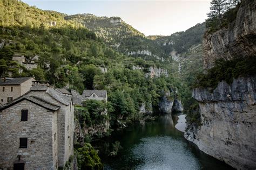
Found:
[{"label": "leafy green bush at bottom edge, beside the large stone building", "polygon": [[75,151],[79,169],[103,169],[98,153],[91,144],[85,143]]}]

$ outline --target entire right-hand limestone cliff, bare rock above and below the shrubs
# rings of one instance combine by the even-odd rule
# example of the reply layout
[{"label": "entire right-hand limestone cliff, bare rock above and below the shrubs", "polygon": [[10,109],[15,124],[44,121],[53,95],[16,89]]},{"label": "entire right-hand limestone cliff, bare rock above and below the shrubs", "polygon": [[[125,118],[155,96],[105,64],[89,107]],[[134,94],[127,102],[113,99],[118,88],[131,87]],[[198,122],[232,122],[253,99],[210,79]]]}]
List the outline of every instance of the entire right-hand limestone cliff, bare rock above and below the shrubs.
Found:
[{"label": "entire right-hand limestone cliff, bare rock above and below the shrubs", "polygon": [[[216,59],[255,57],[255,1],[242,1],[237,18],[227,28],[206,34],[204,68]],[[196,88],[201,124],[190,126],[185,138],[200,150],[237,169],[256,168],[256,76],[238,77],[217,88]]]}]

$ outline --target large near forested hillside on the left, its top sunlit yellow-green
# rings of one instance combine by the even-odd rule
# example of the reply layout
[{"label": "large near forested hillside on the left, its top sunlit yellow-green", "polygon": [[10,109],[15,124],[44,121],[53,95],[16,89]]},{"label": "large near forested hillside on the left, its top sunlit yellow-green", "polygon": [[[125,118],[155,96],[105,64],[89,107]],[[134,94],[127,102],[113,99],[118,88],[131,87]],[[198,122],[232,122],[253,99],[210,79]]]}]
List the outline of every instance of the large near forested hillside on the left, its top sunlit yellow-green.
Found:
[{"label": "large near forested hillside on the left, its top sunlit yellow-green", "polygon": [[[4,16],[0,29],[2,77],[34,76],[80,93],[83,89],[106,89],[112,120],[137,119],[142,104],[157,111],[161,97],[170,91],[170,100],[179,98],[175,91],[182,91],[182,87],[175,74],[149,76],[149,68],[160,67],[159,63],[116,51],[76,20],[65,20],[62,13],[15,0],[1,1],[0,5],[0,16]],[[140,33],[138,36],[146,39]],[[39,56],[37,68],[12,61],[15,55],[24,55],[26,63]],[[107,73],[99,67],[108,68]]]}]

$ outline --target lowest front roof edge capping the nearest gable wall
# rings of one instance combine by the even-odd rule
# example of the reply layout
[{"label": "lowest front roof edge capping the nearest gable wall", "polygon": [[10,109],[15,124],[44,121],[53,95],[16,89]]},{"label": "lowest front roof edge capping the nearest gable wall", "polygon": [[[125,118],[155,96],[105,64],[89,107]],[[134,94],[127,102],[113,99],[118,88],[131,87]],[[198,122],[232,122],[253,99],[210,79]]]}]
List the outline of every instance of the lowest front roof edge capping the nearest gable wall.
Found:
[{"label": "lowest front roof edge capping the nearest gable wall", "polygon": [[56,110],[58,110],[60,108],[57,105],[51,104],[49,102],[46,102],[46,101],[42,100],[41,98],[38,98],[38,97],[35,97],[35,96],[30,96],[30,97],[22,96],[22,97],[16,98],[16,100],[13,100],[13,101],[11,101],[9,103],[6,103],[4,105],[4,107],[0,108],[0,110],[4,110],[6,108],[9,108],[12,105],[17,104],[17,103],[19,103],[19,102],[21,102],[23,100],[30,101],[32,103],[35,103],[35,104],[37,104],[37,105],[39,105],[39,106],[41,106],[41,107],[43,107],[45,109],[51,110],[51,111],[56,111]]}]

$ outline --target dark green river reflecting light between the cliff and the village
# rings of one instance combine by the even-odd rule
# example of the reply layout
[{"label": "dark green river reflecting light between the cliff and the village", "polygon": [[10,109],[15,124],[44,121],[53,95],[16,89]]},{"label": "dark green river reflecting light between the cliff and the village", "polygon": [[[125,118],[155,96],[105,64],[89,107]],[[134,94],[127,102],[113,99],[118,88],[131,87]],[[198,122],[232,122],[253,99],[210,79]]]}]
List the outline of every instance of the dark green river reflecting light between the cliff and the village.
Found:
[{"label": "dark green river reflecting light between the cliff and the village", "polygon": [[104,169],[232,169],[185,140],[183,132],[174,127],[177,119],[165,115],[114,132],[101,144],[107,148],[120,141],[122,149],[116,157],[107,155],[109,151],[99,152]]}]

